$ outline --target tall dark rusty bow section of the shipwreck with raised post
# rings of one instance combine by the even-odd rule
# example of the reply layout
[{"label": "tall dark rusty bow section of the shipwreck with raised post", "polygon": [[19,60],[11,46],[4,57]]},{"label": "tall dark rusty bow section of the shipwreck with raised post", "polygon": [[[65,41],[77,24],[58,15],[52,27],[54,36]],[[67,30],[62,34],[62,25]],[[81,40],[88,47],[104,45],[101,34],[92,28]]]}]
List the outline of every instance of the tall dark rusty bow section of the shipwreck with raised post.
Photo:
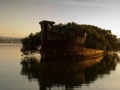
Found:
[{"label": "tall dark rusty bow section of the shipwreck with raised post", "polygon": [[68,30],[65,33],[53,31],[53,21],[43,20],[41,25],[41,59],[80,58],[87,33]]}]

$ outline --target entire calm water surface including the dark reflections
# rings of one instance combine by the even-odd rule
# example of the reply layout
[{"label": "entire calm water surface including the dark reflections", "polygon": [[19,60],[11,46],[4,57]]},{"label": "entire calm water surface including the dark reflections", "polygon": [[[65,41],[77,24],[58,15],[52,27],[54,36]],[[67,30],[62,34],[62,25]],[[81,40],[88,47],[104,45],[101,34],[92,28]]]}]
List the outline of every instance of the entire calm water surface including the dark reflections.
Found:
[{"label": "entire calm water surface including the dark reflections", "polygon": [[0,45],[0,90],[120,90],[116,54],[82,61],[39,61],[38,56],[22,57],[21,47]]}]

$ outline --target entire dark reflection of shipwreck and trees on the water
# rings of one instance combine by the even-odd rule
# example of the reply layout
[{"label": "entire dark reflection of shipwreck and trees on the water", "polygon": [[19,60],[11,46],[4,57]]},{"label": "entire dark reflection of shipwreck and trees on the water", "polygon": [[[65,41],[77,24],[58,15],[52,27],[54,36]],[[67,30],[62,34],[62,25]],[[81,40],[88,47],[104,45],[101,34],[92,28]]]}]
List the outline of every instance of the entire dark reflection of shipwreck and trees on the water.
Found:
[{"label": "entire dark reflection of shipwreck and trees on the water", "polygon": [[110,74],[116,69],[119,57],[117,54],[107,55],[104,58],[85,59],[81,61],[40,61],[35,58],[23,58],[22,75],[28,79],[37,79],[40,90],[60,89],[73,90],[83,84],[90,84],[97,78]]}]

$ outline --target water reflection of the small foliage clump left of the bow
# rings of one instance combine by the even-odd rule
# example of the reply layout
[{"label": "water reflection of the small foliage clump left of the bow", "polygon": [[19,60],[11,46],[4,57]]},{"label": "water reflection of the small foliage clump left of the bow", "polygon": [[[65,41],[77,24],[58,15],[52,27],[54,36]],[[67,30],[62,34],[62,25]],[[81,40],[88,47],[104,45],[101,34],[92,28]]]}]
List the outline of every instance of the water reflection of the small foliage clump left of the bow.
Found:
[{"label": "water reflection of the small foliage clump left of the bow", "polygon": [[32,80],[32,79],[39,80],[39,78],[40,78],[40,76],[39,76],[39,62],[40,62],[39,59],[37,59],[35,57],[22,58],[21,74],[27,75],[29,80]]}]

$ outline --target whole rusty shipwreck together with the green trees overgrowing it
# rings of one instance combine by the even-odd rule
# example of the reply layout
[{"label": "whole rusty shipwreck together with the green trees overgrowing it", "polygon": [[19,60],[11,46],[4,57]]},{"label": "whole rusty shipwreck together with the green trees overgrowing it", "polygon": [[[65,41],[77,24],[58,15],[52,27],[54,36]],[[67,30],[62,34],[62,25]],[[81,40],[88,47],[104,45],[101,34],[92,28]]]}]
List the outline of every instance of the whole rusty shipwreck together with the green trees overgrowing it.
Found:
[{"label": "whole rusty shipwreck together with the green trees overgrowing it", "polygon": [[[67,24],[60,23],[58,25],[53,24],[54,22],[51,21],[40,22],[41,32],[37,32],[36,34],[31,33],[28,37],[25,37],[21,40],[23,44],[21,52],[23,52],[23,54],[42,52],[42,54],[46,54],[45,57],[48,55],[50,58],[50,54],[53,56],[56,54],[55,51],[57,51],[56,55],[58,55],[58,57],[70,57],[71,55],[74,55],[75,57],[79,58],[81,56],[99,56],[106,52],[115,52],[120,48],[117,36],[112,34],[111,30],[105,30],[94,25],[80,25],[75,22],[69,22]],[[46,31],[43,31],[43,29]],[[87,34],[85,35],[85,33]],[[85,40],[81,39],[82,37]],[[43,39],[47,41],[42,41]],[[83,41],[82,43],[81,40]],[[41,47],[44,47],[46,45],[48,45],[47,48],[44,48],[44,50],[42,50]],[[78,48],[78,46],[81,46],[81,48]],[[67,51],[62,51],[61,48]],[[44,57],[44,55],[42,57]]]}]

